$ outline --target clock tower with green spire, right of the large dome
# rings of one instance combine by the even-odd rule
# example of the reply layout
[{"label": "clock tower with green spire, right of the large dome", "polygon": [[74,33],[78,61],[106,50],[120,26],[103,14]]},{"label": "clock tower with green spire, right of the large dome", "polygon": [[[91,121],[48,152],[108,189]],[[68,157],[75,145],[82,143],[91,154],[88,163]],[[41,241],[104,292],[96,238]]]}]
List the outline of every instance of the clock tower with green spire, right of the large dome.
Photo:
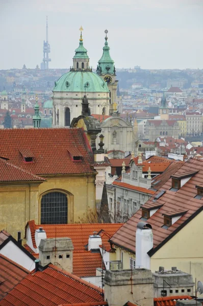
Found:
[{"label": "clock tower with green spire, right of the large dome", "polygon": [[[109,96],[110,96],[109,115],[112,115],[113,111],[115,111],[118,81],[116,80],[116,69],[114,66],[114,61],[112,60],[110,53],[109,53],[110,47],[107,42],[108,30],[105,30],[105,33],[106,33],[106,36],[105,36],[105,45],[103,47],[103,55],[98,61],[96,73],[104,79],[104,81],[107,83],[107,86],[109,88]],[[113,110],[113,105],[114,105],[114,110]]]}]

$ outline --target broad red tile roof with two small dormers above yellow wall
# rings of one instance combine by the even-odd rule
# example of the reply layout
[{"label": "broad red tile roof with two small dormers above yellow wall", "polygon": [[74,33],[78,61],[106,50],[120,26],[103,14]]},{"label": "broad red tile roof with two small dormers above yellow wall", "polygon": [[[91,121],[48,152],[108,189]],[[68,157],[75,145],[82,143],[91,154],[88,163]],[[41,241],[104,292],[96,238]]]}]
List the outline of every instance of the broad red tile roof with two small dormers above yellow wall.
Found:
[{"label": "broad red tile roof with two small dormers above yellow wall", "polygon": [[[0,156],[37,175],[94,173],[93,153],[83,129],[1,129]],[[80,151],[82,161],[72,161],[68,149]],[[26,163],[20,150],[29,149],[34,162]]]}]

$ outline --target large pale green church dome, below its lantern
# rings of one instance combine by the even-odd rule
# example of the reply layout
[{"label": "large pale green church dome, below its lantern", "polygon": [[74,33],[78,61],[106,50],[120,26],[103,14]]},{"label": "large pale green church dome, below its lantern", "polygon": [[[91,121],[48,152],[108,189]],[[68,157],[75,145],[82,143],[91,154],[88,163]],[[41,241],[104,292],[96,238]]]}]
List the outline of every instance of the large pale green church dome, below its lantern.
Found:
[{"label": "large pale green church dome, below its lantern", "polygon": [[[75,69],[76,70],[76,69]],[[107,84],[91,71],[69,71],[55,82],[53,92],[109,92]]]}]

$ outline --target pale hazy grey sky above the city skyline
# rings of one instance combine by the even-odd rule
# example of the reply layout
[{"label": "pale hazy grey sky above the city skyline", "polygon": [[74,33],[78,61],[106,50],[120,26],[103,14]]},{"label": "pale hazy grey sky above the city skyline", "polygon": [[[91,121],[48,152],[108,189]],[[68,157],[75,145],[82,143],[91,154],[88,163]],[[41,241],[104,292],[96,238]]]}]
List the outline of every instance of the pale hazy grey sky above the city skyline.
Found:
[{"label": "pale hazy grey sky above the city skyline", "polygon": [[203,0],[0,0],[0,69],[40,66],[46,15],[49,68],[72,65],[81,25],[94,68],[106,29],[117,68],[203,68]]}]

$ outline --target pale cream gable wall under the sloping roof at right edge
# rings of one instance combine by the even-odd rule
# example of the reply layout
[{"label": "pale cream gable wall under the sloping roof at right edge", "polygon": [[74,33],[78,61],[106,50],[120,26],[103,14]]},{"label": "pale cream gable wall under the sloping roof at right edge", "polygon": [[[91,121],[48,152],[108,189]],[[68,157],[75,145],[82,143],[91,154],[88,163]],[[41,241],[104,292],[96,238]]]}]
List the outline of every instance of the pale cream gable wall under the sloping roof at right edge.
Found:
[{"label": "pale cream gable wall under the sloping roof at right edge", "polygon": [[203,212],[199,213],[182,230],[151,257],[151,271],[163,266],[177,267],[191,273],[193,281],[203,281]]}]

